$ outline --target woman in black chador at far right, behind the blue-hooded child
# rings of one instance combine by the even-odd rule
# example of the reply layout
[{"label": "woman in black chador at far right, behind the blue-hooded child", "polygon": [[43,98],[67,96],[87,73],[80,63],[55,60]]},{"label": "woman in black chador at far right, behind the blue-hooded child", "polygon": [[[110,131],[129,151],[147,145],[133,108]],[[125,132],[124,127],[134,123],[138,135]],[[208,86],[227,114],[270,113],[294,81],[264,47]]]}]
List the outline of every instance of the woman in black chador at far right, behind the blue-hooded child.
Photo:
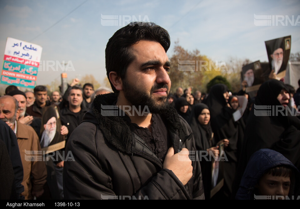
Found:
[{"label": "woman in black chador at far right, behind the blue-hooded child", "polygon": [[[287,114],[283,111],[283,115],[276,111],[276,108],[286,107],[285,103],[288,101],[283,100],[282,103],[279,101],[279,97],[286,93],[287,87],[279,80],[268,80],[259,87],[247,121],[235,189],[250,156],[262,148],[273,149],[283,154],[298,169],[300,168],[300,120],[290,115],[288,111]],[[261,110],[263,107],[265,109]],[[261,111],[265,111],[268,115],[259,115]]]}]

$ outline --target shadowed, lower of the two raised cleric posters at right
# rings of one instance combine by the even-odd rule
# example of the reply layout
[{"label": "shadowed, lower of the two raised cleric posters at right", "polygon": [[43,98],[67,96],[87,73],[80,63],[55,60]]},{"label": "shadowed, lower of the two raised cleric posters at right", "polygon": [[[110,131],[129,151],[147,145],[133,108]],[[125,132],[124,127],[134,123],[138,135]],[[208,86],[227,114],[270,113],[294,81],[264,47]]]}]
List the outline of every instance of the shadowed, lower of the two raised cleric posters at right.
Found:
[{"label": "shadowed, lower of the two raised cleric posters at right", "polygon": [[260,61],[252,62],[242,67],[241,80],[247,82],[246,92],[255,96],[259,86],[265,81],[264,71]]}]

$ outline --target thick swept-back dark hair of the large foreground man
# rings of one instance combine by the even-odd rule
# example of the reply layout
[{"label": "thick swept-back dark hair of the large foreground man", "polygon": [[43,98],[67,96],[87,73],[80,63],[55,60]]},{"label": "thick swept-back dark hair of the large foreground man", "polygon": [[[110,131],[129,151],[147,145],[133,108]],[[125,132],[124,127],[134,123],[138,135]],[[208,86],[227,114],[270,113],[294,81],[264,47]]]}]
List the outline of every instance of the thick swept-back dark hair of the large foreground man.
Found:
[{"label": "thick swept-back dark hair of the large foreground man", "polygon": [[[115,32],[106,45],[105,66],[108,80],[111,71],[115,71],[122,80],[125,78],[127,67],[135,59],[130,47],[141,40],[156,41],[163,46],[165,52],[170,47],[170,36],[164,28],[153,22],[129,23]],[[109,82],[113,91],[118,94],[119,91],[110,80]]]}]

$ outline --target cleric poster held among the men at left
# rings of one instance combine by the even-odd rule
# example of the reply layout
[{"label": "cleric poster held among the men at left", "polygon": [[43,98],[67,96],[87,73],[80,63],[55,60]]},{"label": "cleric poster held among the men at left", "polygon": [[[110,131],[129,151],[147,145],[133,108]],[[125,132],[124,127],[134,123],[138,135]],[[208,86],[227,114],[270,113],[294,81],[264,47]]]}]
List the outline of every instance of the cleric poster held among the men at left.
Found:
[{"label": "cleric poster held among the men at left", "polygon": [[42,124],[40,143],[45,154],[54,152],[65,147],[65,136],[60,134],[62,123],[60,121],[58,108],[56,105],[44,107],[42,109]]}]

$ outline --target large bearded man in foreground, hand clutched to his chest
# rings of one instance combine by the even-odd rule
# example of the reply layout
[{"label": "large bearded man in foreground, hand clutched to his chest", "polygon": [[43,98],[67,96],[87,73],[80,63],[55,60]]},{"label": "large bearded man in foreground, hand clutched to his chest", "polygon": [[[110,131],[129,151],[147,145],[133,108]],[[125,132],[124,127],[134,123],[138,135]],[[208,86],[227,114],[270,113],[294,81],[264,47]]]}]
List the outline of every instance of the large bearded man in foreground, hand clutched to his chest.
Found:
[{"label": "large bearded man in foreground, hand clutched to his chest", "polygon": [[67,199],[204,199],[195,142],[168,105],[168,32],[154,23],[119,29],[106,47],[114,93],[97,96],[70,136]]}]

